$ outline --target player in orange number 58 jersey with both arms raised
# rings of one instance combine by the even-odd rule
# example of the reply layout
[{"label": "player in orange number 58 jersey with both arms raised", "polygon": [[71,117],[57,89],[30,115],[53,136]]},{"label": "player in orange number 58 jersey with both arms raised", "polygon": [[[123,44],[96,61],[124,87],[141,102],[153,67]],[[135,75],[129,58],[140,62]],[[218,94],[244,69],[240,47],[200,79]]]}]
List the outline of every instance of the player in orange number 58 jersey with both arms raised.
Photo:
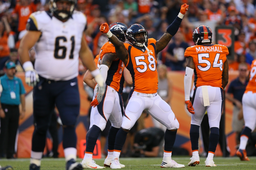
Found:
[{"label": "player in orange number 58 jersey with both arms raised", "polygon": [[100,31],[105,33],[113,43],[116,55],[124,62],[133,78],[133,89],[129,94],[129,102],[125,109],[122,126],[116,135],[113,158],[110,168],[121,168],[119,156],[126,140],[126,135],[141,116],[143,110],[148,112],[167,127],[165,131],[164,158],[161,167],[185,167],[172,160],[172,148],[175,142],[179,122],[170,106],[157,95],[157,54],[162,51],[179,29],[188,5],[183,4],[179,15],[167,28],[164,35],[156,41],[148,39],[147,31],[139,24],[131,25],[126,32],[128,43],[122,43],[112,35],[108,24],[104,23]]}]

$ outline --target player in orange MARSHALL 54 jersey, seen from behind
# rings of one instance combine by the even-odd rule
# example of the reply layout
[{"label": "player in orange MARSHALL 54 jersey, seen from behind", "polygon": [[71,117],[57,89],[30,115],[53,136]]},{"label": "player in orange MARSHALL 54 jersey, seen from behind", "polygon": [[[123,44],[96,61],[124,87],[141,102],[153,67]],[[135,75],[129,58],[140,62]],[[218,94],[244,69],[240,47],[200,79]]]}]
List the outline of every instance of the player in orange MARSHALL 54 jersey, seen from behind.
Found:
[{"label": "player in orange MARSHALL 54 jersey, seen from behind", "polygon": [[[210,143],[206,166],[216,166],[213,156],[219,141],[219,123],[223,106],[223,89],[228,84],[228,48],[224,45],[211,45],[212,32],[208,26],[200,25],[193,33],[195,46],[188,47],[186,73],[184,77],[185,103],[191,115],[190,141],[193,156],[188,166],[199,164],[199,127],[205,112],[210,125]],[[192,103],[189,100],[191,80],[195,74],[195,90]]]}]

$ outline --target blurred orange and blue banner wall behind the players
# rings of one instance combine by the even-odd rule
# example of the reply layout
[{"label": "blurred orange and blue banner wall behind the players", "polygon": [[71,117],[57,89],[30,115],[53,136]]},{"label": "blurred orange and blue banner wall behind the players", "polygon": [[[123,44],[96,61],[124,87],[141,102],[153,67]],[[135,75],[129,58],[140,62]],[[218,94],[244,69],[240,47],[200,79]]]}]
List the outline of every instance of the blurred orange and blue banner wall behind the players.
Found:
[{"label": "blurred orange and blue banner wall behind the players", "polygon": [[[190,115],[187,114],[187,110],[184,102],[184,71],[169,71],[168,77],[173,82],[173,98],[171,101],[171,108],[175,113],[176,118],[179,121],[179,129],[177,132],[177,137],[175,141],[175,147],[185,148],[192,154],[191,143],[189,140],[189,129],[190,129]],[[17,73],[17,76],[20,77],[23,81],[24,87],[26,89],[26,113],[23,119],[19,121],[19,135],[18,135],[18,145],[17,145],[17,156],[19,158],[28,158],[30,157],[31,151],[31,141],[32,134],[34,131],[34,120],[33,120],[33,88],[29,87],[25,83],[24,73]],[[238,76],[237,72],[229,73],[229,82],[235,79]],[[86,133],[89,128],[87,123],[87,115],[90,108],[90,101],[87,100],[88,95],[83,88],[83,76],[78,76],[79,92],[80,92],[80,115],[76,124],[76,133],[77,133],[77,154],[80,154],[81,140],[86,139]],[[226,129],[225,133],[227,136],[228,146],[231,150],[231,155],[235,153],[235,134],[232,132],[232,111],[233,105],[231,102],[226,100]],[[152,118],[149,116],[144,119],[145,127],[153,127]],[[59,128],[59,157],[64,157],[63,147],[62,147],[62,128]],[[49,140],[49,139],[48,139]],[[82,141],[82,143],[85,141]],[[47,142],[49,143],[49,142]],[[100,144],[98,144],[100,145]],[[81,148],[84,150],[84,147]],[[199,149],[200,150],[200,149]],[[100,151],[100,149],[99,149]],[[215,152],[217,156],[221,156],[222,152],[218,145]]]}]

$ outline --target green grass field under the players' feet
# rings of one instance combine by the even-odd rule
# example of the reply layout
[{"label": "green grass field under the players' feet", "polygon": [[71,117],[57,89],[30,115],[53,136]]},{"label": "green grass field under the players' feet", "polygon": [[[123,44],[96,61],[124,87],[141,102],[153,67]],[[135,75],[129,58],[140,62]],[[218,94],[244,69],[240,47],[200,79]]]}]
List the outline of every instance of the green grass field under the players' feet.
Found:
[{"label": "green grass field under the players' feet", "polygon": [[[190,157],[172,156],[172,159],[179,164],[185,164],[186,169],[256,169],[256,157],[249,157],[251,161],[242,162],[238,157],[215,157],[214,162],[217,167],[205,167],[205,157],[201,157],[201,164],[196,167],[188,167]],[[78,159],[81,161],[81,159]],[[104,159],[95,160],[97,164],[103,166]],[[120,158],[120,162],[125,165],[122,169],[160,169],[162,158]],[[11,165],[16,170],[28,170],[29,159],[0,159],[1,166]],[[110,168],[107,168],[110,169]],[[43,159],[41,170],[65,170],[65,159]]]}]

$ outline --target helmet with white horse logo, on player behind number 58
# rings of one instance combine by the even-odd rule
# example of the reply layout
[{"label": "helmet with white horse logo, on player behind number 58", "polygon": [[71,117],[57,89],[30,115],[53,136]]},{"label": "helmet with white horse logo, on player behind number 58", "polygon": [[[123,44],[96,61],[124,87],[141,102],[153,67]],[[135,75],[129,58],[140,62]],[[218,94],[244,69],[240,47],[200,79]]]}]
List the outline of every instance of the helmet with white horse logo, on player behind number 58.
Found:
[{"label": "helmet with white horse logo, on player behind number 58", "polygon": [[127,31],[127,26],[122,22],[114,22],[109,26],[110,32],[114,34],[120,41],[125,42],[125,33]]}]

